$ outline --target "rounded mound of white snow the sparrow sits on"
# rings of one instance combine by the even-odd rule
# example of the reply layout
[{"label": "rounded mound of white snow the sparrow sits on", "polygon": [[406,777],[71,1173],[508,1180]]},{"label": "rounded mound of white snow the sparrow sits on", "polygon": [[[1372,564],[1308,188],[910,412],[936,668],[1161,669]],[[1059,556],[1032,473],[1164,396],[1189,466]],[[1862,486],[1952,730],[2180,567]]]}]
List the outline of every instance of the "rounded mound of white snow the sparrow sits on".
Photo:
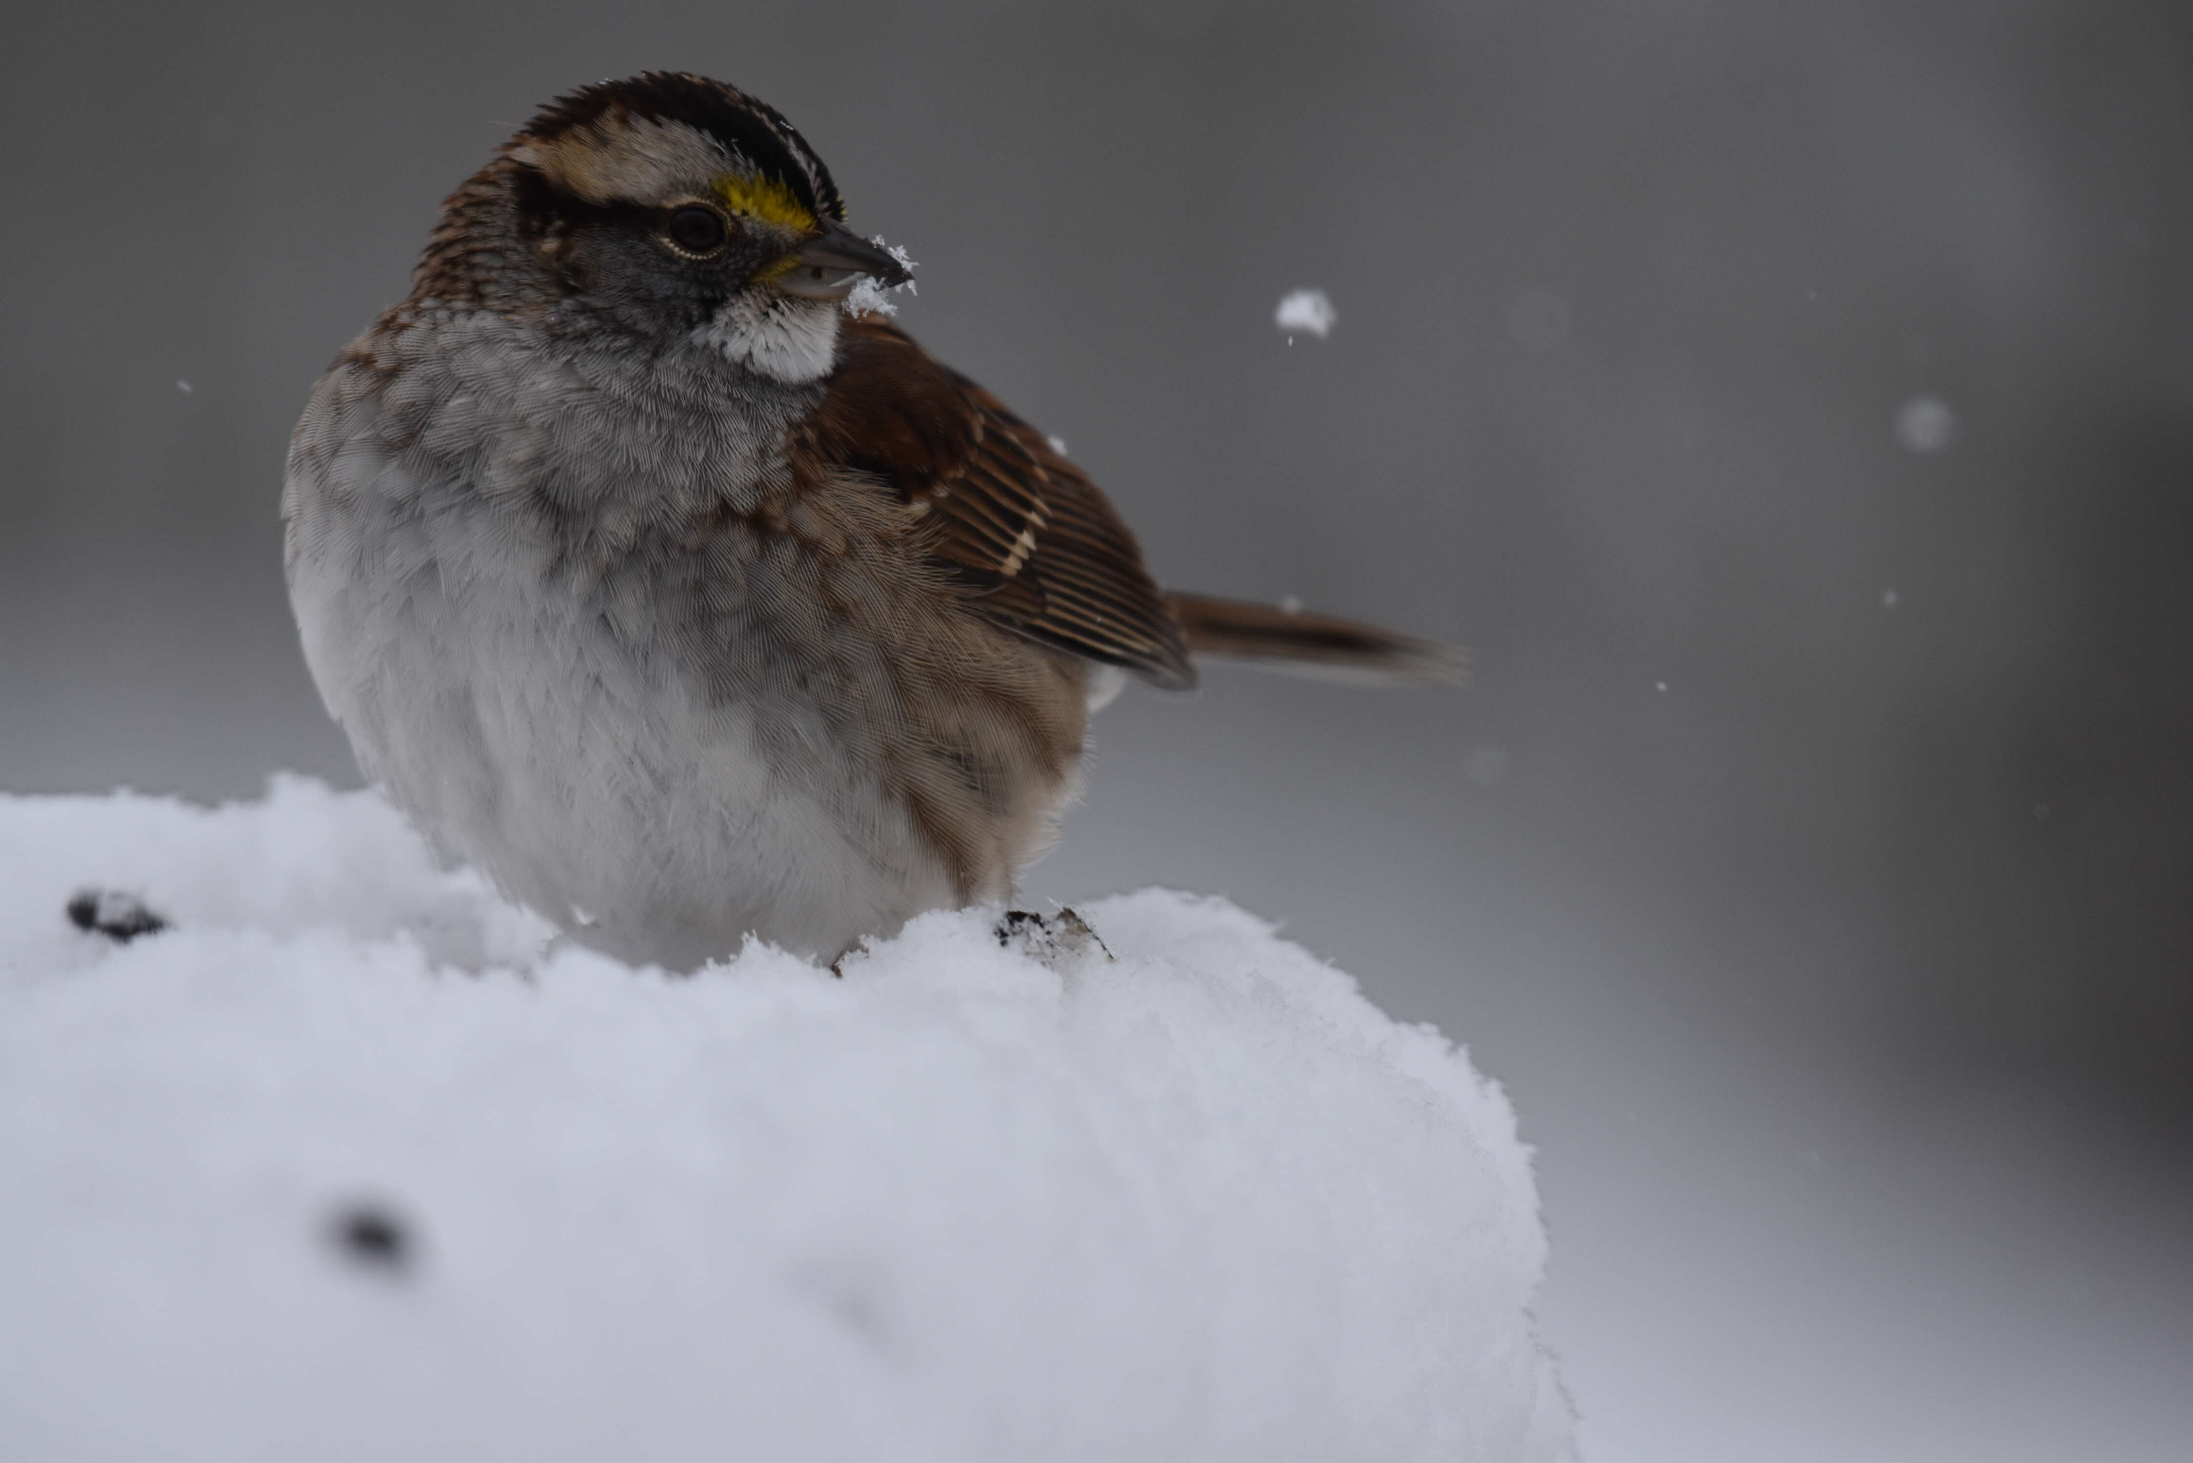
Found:
[{"label": "rounded mound of white snow the sparrow sits on", "polygon": [[0,1452],[1566,1454],[1498,1088],[1224,901],[1081,912],[673,978],[373,794],[0,796]]}]

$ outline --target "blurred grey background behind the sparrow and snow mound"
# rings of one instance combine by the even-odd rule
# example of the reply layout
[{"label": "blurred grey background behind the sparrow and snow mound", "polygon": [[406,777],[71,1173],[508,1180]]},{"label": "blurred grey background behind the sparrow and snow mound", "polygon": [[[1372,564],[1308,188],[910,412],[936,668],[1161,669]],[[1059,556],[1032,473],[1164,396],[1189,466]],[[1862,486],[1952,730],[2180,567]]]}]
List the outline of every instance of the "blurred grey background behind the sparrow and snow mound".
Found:
[{"label": "blurred grey background behind the sparrow and snow mound", "polygon": [[1590,1454],[2184,1456],[2189,15],[9,7],[0,787],[355,783],[289,423],[537,103],[713,72],[1162,579],[1478,649],[1129,693],[1033,895],[1472,1046]]}]

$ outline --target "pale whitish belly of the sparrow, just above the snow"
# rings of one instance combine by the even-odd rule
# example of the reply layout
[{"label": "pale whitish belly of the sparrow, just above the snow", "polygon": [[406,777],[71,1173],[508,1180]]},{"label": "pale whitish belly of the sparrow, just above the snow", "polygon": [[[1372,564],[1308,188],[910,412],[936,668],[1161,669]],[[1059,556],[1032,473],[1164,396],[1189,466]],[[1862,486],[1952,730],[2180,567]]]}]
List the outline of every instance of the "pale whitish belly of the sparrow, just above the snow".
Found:
[{"label": "pale whitish belly of the sparrow, just above the snow", "polygon": [[689,967],[754,932],[833,959],[956,901],[943,864],[890,836],[904,814],[879,790],[800,785],[765,759],[757,708],[634,656],[491,524],[441,515],[432,553],[377,557],[412,568],[294,572],[329,708],[447,853],[586,943]]}]

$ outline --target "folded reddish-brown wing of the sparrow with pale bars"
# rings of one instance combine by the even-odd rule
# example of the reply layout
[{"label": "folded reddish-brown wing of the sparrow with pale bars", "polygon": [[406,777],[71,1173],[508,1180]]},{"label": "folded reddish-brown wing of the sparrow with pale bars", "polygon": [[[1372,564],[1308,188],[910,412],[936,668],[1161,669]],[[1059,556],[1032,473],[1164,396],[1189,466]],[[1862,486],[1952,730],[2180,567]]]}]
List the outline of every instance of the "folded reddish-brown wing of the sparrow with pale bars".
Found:
[{"label": "folded reddish-brown wing of the sparrow with pale bars", "polygon": [[1195,684],[1180,625],[1096,485],[895,325],[844,325],[798,456],[873,474],[923,509],[930,553],[978,614],[1160,687]]}]

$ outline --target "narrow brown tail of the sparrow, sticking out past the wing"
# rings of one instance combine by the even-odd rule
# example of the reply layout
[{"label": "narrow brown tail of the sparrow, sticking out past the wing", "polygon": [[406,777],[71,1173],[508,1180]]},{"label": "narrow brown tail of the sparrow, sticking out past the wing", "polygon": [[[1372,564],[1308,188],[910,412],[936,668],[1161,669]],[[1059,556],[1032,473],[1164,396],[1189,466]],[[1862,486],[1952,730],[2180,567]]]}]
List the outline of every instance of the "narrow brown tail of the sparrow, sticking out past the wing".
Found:
[{"label": "narrow brown tail of the sparrow, sticking out past the wing", "polygon": [[1274,671],[1364,684],[1458,684],[1469,651],[1331,614],[1206,594],[1167,594],[1195,656],[1254,660]]}]

